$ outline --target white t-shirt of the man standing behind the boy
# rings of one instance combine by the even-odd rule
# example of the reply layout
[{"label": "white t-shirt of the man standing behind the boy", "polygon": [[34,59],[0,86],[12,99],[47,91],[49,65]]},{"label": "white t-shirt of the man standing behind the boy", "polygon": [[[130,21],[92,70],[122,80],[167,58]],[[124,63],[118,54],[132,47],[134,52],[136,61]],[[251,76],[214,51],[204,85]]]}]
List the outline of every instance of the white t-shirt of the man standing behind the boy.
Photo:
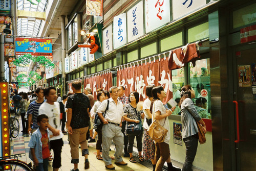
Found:
[{"label": "white t-shirt of the man standing behind the boy", "polygon": [[[60,129],[60,109],[59,109],[59,103],[58,102],[54,102],[54,105],[51,105],[47,102],[43,103],[39,107],[39,115],[40,114],[46,114],[49,117],[50,126],[52,126],[53,128],[55,128],[57,130],[61,130]],[[51,136],[52,131],[49,130],[49,134]],[[63,134],[60,131],[59,135],[50,138],[50,141],[55,140],[55,139],[60,139],[62,137],[63,137]]]}]

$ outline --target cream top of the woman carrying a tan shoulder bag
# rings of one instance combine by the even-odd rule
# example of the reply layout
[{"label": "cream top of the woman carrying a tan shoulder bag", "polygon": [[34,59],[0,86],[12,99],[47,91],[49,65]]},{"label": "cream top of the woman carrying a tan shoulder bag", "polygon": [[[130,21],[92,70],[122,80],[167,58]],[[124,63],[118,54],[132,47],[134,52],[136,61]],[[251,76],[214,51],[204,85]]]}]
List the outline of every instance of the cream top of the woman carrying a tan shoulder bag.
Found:
[{"label": "cream top of the woman carrying a tan shoulder bag", "polygon": [[[152,111],[152,121],[155,120],[155,112],[160,111],[161,114],[166,113],[166,109],[163,106],[163,103],[160,100],[157,100],[154,102],[153,105],[153,111]],[[165,120],[166,119],[166,120]],[[165,121],[165,122],[164,122]],[[165,129],[168,130],[168,132],[165,135],[164,142],[169,143],[170,140],[170,128],[169,128],[169,119],[167,118],[162,118],[160,120],[157,120],[157,123],[163,126]]]}]

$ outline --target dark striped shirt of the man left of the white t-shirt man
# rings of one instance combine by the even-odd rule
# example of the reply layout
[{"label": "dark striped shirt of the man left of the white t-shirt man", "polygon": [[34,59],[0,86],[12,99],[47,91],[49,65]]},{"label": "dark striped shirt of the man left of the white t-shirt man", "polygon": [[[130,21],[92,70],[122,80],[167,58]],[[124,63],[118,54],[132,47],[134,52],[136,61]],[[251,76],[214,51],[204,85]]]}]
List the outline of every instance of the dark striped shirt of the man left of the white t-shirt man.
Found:
[{"label": "dark striped shirt of the man left of the white t-shirt man", "polygon": [[[46,102],[46,100],[44,100],[44,102]],[[32,114],[32,120],[33,120],[33,126],[32,126],[32,130],[36,130],[38,128],[37,125],[37,116],[38,116],[38,111],[39,111],[39,107],[41,106],[42,103],[36,103],[36,101],[33,101],[29,104],[28,107],[28,114]]]}]

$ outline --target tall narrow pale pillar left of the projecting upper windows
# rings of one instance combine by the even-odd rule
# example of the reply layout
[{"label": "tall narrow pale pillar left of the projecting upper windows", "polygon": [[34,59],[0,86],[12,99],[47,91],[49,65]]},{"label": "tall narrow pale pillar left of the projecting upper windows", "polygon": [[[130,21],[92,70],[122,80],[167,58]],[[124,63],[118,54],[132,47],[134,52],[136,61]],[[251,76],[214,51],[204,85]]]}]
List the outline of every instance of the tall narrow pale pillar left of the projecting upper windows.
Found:
[{"label": "tall narrow pale pillar left of the projecting upper windows", "polygon": [[[65,15],[61,15],[61,64],[62,64],[62,86],[63,94],[66,91],[66,74],[65,74],[65,57],[66,57],[66,29],[65,29]],[[63,95],[62,94],[62,95]]]}]

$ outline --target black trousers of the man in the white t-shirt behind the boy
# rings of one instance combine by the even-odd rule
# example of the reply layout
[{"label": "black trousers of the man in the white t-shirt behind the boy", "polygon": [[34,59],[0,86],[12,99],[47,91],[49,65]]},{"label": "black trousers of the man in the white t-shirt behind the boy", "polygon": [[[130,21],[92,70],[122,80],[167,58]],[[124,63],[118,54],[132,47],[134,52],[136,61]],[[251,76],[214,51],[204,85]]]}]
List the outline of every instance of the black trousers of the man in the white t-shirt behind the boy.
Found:
[{"label": "black trousers of the man in the white t-shirt behind the boy", "polygon": [[53,168],[59,168],[61,166],[61,150],[63,146],[62,138],[56,140],[50,140],[50,149],[53,150]]}]

